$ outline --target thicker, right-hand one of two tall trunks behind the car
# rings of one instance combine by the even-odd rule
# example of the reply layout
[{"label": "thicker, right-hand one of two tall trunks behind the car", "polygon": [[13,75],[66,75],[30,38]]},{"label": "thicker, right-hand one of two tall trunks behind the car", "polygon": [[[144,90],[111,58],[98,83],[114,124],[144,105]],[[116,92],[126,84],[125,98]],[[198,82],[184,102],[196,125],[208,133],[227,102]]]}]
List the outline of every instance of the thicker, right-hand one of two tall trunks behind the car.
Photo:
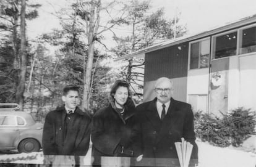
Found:
[{"label": "thicker, right-hand one of two tall trunks behind the car", "polygon": [[21,67],[20,67],[20,79],[19,85],[16,91],[16,100],[20,105],[20,110],[23,110],[24,97],[23,93],[25,91],[25,77],[27,71],[27,52],[26,52],[26,34],[25,34],[25,9],[26,4],[25,0],[22,0],[22,7],[20,10],[20,57],[21,57]]}]

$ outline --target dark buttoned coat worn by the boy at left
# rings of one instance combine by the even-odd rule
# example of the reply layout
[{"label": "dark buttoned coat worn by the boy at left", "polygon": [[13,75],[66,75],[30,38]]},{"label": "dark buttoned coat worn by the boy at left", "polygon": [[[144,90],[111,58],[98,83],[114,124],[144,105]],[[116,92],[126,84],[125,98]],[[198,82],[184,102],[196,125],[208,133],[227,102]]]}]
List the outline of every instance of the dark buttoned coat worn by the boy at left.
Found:
[{"label": "dark buttoned coat worn by the boy at left", "polygon": [[[66,110],[59,107],[49,112],[43,128],[43,153],[45,155],[86,155],[91,131],[91,118],[80,108],[75,109],[74,119],[65,127]],[[65,129],[67,134],[65,137]]]}]

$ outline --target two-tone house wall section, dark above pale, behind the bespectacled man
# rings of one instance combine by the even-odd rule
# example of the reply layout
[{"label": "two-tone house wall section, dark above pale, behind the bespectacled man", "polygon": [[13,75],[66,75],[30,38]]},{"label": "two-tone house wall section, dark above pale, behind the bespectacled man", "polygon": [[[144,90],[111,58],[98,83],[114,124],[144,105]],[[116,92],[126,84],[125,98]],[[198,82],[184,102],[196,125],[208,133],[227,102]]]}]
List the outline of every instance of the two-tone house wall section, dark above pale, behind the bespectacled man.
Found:
[{"label": "two-tone house wall section, dark above pale, behind the bespectacled man", "polygon": [[188,50],[187,42],[145,54],[144,102],[155,97],[154,81],[163,76],[173,79],[174,99],[186,102]]}]

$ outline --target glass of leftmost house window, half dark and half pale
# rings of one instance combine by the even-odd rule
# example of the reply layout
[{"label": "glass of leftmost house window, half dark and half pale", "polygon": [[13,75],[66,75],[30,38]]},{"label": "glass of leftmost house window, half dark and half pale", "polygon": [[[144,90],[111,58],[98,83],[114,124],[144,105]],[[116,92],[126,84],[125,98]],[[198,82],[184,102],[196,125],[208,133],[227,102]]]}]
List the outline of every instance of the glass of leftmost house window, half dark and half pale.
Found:
[{"label": "glass of leftmost house window, half dark and half pale", "polygon": [[210,55],[210,39],[190,44],[190,69],[207,68]]}]

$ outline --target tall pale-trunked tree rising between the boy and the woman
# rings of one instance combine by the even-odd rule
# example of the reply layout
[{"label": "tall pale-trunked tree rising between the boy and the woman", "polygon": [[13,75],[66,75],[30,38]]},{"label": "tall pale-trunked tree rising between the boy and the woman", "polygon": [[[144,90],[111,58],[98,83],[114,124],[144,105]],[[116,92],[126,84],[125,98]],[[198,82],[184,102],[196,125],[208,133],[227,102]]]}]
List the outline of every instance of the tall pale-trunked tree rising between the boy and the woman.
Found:
[{"label": "tall pale-trunked tree rising between the boy and the woman", "polygon": [[[95,43],[100,44],[100,36],[103,32],[111,30],[114,25],[119,24],[123,21],[122,17],[112,17],[109,14],[108,7],[114,4],[110,2],[107,7],[103,7],[101,0],[90,0],[90,1],[79,1],[79,12],[80,16],[85,21],[85,30],[87,34],[88,43],[88,57],[85,57],[83,64],[83,108],[90,110],[90,99],[92,96],[92,83],[93,83],[93,60],[95,60]],[[110,19],[105,26],[100,25],[100,12],[105,10],[105,13],[109,15]],[[122,14],[120,14],[122,16]],[[103,44],[103,46],[105,46]],[[87,58],[87,59],[86,59]],[[96,66],[97,63],[95,63]],[[94,67],[96,68],[96,67]]]}]

